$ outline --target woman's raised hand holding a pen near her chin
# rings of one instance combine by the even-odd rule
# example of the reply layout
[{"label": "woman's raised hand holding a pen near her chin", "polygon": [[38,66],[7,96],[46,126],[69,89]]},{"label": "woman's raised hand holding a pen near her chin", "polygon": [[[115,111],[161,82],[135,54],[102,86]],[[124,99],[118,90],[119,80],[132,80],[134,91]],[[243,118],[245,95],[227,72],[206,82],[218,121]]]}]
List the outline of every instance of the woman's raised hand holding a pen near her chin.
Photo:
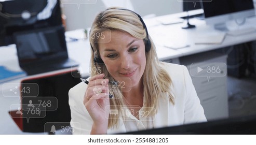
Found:
[{"label": "woman's raised hand holding a pen near her chin", "polygon": [[90,78],[84,96],[84,105],[89,112],[93,125],[91,134],[106,134],[110,113],[109,79],[104,74]]}]

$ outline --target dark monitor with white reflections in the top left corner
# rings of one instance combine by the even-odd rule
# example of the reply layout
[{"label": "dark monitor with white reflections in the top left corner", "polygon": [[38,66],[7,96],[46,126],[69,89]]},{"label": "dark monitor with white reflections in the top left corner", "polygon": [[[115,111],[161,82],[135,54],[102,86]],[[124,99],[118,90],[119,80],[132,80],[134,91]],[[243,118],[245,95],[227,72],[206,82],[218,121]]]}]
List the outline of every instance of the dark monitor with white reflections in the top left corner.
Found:
[{"label": "dark monitor with white reflections in the top left corner", "polygon": [[14,44],[13,34],[62,25],[59,0],[0,2],[0,46]]}]

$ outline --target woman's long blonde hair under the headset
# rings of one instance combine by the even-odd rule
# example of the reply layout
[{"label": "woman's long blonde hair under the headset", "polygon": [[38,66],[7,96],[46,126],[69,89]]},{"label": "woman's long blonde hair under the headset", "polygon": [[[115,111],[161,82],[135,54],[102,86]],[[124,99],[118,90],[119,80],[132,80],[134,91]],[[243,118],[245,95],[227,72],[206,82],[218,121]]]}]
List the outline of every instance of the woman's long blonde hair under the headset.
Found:
[{"label": "woman's long blonde hair under the headset", "polygon": [[[92,34],[102,33],[105,30],[110,31],[121,31],[132,35],[138,39],[146,39],[146,31],[143,27],[142,22],[140,21],[138,15],[130,10],[119,9],[119,8],[109,8],[100,12],[95,21],[92,24],[90,32],[90,44],[92,47],[91,53],[91,68],[98,66],[101,69],[101,72],[104,72],[107,75],[107,78],[113,78],[110,73],[107,71],[104,64],[96,64],[95,56],[100,57],[99,54],[99,45],[97,37],[92,37]],[[168,73],[159,66],[158,57],[156,54],[156,48],[149,36],[151,41],[151,49],[149,52],[146,52],[146,66],[144,73],[142,75],[143,79],[143,111],[150,112],[150,116],[156,114],[159,102],[159,94],[162,92],[167,92],[169,94],[169,100],[174,104],[174,98],[171,95],[171,78]],[[92,72],[92,71],[91,71]],[[91,76],[97,75],[97,72],[92,72]],[[118,109],[126,107],[123,100],[122,90],[116,88],[114,93],[116,99],[110,99],[111,109]],[[108,127],[117,127],[118,126],[118,115],[109,115],[109,125]]]}]

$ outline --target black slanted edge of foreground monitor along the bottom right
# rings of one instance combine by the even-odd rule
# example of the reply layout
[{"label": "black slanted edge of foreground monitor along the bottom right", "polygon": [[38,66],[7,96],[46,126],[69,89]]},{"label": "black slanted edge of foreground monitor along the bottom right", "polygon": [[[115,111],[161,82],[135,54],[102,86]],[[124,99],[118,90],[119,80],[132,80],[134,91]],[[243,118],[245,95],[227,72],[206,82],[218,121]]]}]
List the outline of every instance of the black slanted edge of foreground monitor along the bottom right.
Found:
[{"label": "black slanted edge of foreground monitor along the bottom right", "polygon": [[155,128],[124,134],[143,135],[248,135],[256,134],[256,115]]}]

